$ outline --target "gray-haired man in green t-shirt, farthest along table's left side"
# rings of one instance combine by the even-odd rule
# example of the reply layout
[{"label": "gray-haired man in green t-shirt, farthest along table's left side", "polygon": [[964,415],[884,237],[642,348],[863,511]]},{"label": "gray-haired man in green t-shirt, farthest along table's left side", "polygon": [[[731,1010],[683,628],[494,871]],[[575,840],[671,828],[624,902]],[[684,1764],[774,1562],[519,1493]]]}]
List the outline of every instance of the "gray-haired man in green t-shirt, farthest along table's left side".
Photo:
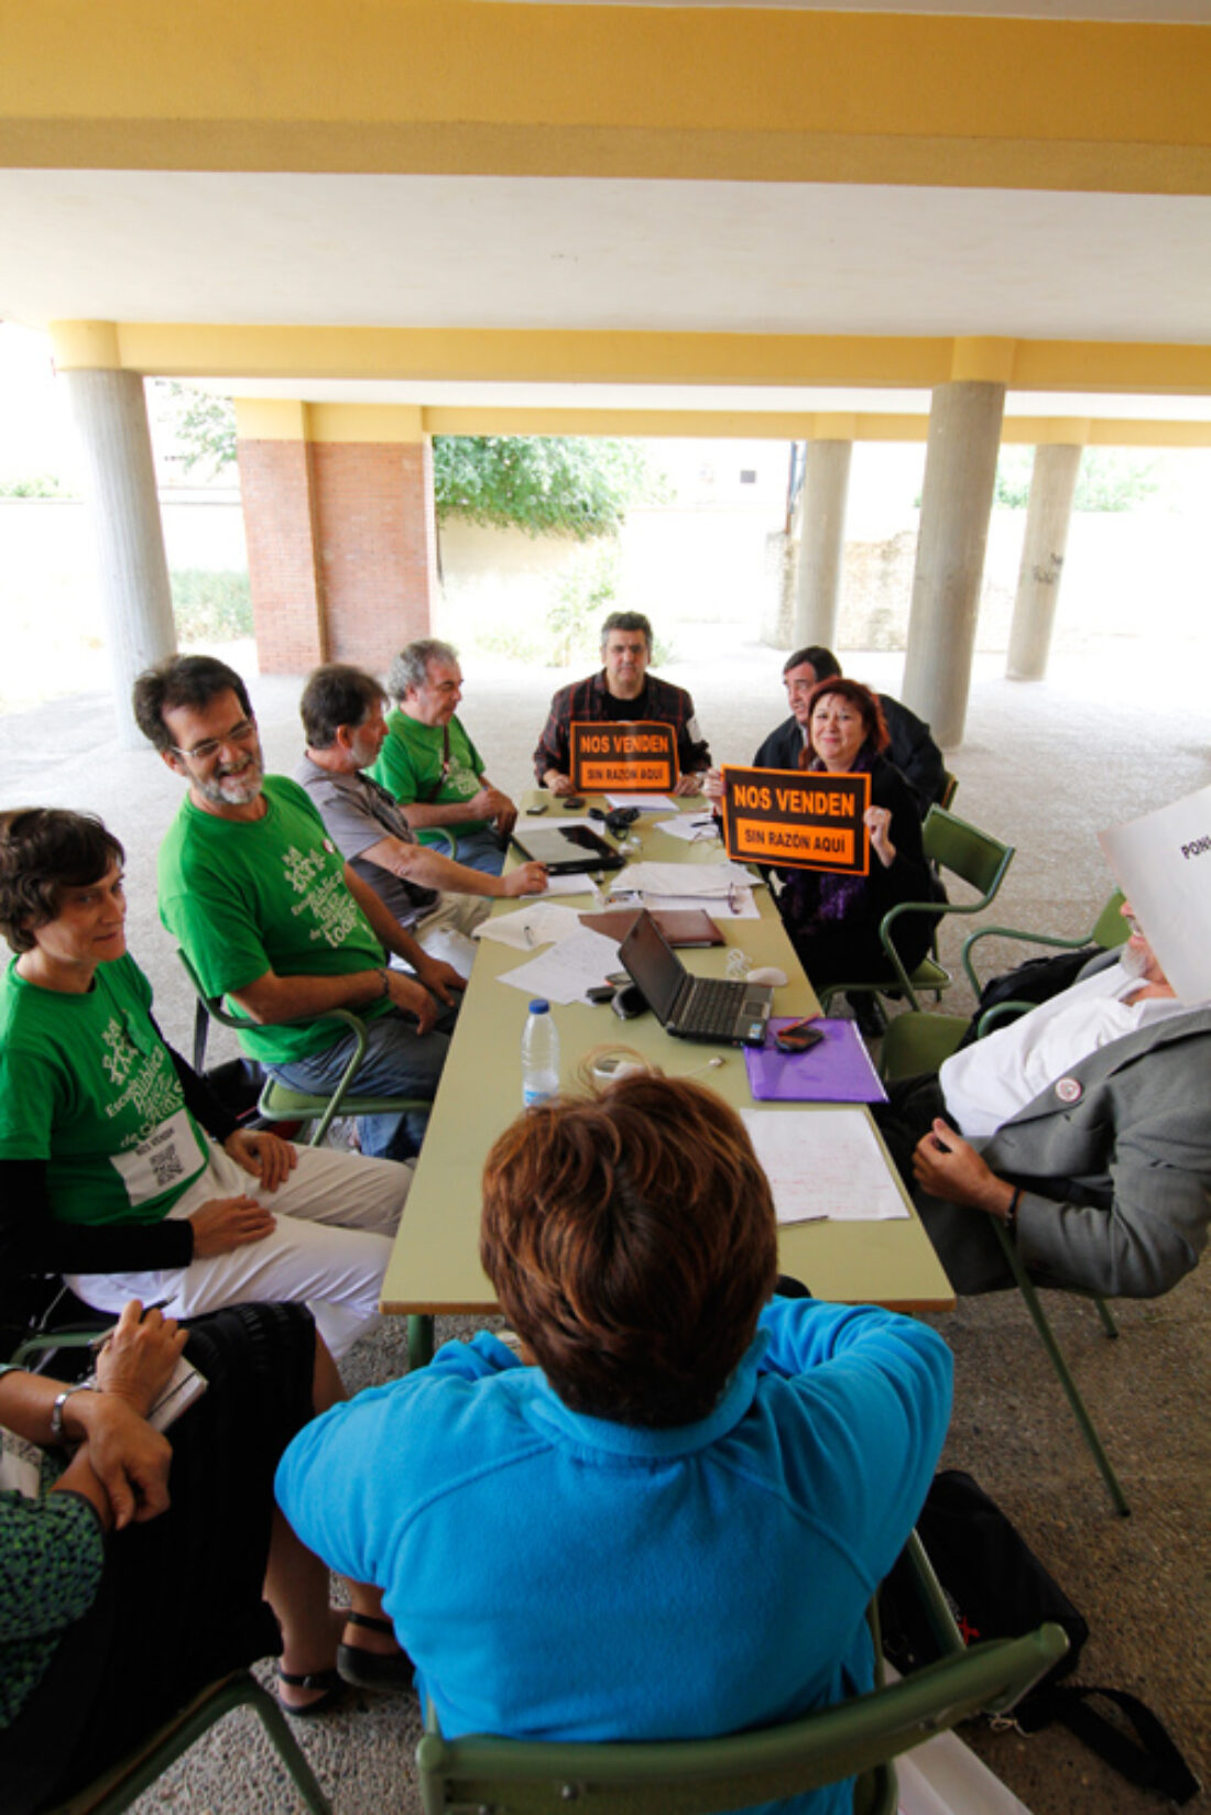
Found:
[{"label": "gray-haired man in green t-shirt, farthest along table's left side", "polygon": [[370,775],[405,809],[421,844],[445,844],[427,837],[427,826],[448,828],[459,864],[499,877],[517,808],[483,773],[483,757],[456,717],[458,652],[438,637],[409,643],[390,664],[387,692],[398,708],[387,715],[387,742]]}]

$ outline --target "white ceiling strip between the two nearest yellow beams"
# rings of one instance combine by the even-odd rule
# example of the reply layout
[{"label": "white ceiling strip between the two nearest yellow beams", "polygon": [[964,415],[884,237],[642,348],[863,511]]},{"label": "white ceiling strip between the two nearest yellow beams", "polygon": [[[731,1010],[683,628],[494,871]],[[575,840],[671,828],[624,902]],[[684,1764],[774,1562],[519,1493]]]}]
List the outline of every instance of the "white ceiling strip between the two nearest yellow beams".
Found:
[{"label": "white ceiling strip between the two nearest yellow beams", "polygon": [[1211,198],[0,172],[0,314],[1211,339]]}]

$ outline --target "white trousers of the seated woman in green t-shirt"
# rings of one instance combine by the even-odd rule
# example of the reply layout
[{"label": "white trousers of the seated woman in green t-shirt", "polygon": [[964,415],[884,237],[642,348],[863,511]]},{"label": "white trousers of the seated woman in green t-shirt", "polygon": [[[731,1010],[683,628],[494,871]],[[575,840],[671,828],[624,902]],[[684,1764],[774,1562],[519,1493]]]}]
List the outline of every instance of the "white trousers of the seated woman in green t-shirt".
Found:
[{"label": "white trousers of the seated woman in green t-shirt", "polygon": [[330,1147],[300,1147],[290,1176],[269,1192],[222,1147],[214,1142],[209,1147],[211,1163],[171,1214],[192,1216],[211,1198],[247,1194],[276,1216],[267,1236],[189,1267],[69,1274],[67,1285],[98,1310],[122,1310],[129,1298],[143,1303],[167,1298],[169,1318],[196,1318],[252,1300],[303,1300],[340,1359],[378,1321],[379,1285],[412,1183],[410,1167]]}]

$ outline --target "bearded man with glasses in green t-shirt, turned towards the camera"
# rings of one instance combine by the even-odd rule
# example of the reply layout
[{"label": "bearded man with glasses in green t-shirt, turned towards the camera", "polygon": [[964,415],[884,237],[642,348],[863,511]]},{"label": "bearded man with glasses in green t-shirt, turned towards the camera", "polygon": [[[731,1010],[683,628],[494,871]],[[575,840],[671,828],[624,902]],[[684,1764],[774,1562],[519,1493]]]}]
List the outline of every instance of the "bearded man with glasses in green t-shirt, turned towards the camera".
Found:
[{"label": "bearded man with glasses in green t-shirt, turned towards the camera", "polygon": [[[463,978],[343,862],[298,782],[265,775],[240,675],[209,655],[169,655],[134,682],[134,717],[189,788],[160,846],[160,918],[205,993],[247,1018],[243,1051],[323,1093],[352,1035],[312,1016],[354,1009],[369,1036],[354,1091],[432,1100]],[[390,969],[387,953],[416,975]],[[425,1120],[363,1116],[361,1151],[407,1158]]]}]

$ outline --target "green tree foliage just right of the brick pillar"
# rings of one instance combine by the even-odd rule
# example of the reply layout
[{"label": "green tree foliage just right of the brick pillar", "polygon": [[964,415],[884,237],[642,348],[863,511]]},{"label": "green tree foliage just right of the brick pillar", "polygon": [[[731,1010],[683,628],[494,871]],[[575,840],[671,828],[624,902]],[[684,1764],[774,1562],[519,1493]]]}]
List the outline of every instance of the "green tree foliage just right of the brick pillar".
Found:
[{"label": "green tree foliage just right of the brick pillar", "polygon": [[527,535],[590,541],[657,492],[634,441],[572,436],[436,436],[438,521],[463,517]]}]

